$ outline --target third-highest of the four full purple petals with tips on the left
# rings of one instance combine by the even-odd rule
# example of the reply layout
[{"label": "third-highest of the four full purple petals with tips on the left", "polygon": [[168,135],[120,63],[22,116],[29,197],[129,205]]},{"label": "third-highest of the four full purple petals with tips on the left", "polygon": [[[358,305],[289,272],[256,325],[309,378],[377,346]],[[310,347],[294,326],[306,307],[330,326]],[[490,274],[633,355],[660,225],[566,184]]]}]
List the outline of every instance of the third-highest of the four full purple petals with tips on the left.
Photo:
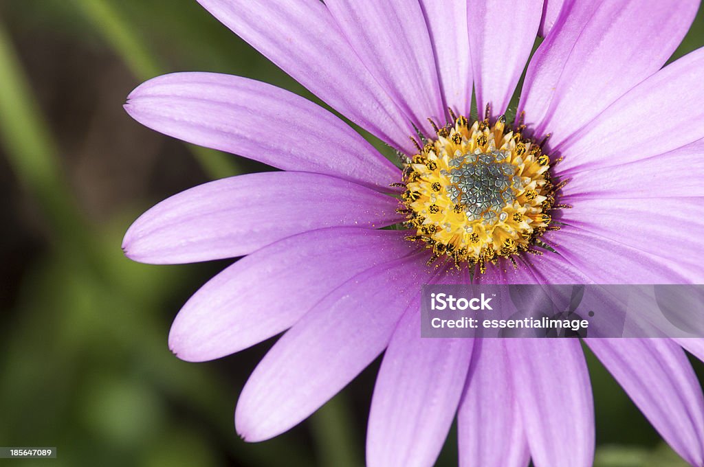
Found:
[{"label": "third-highest of the four full purple petals with tips on the left", "polygon": [[202,362],[268,339],[353,276],[408,255],[413,245],[405,235],[334,227],[257,250],[188,300],[171,326],[169,347],[180,359]]}]

